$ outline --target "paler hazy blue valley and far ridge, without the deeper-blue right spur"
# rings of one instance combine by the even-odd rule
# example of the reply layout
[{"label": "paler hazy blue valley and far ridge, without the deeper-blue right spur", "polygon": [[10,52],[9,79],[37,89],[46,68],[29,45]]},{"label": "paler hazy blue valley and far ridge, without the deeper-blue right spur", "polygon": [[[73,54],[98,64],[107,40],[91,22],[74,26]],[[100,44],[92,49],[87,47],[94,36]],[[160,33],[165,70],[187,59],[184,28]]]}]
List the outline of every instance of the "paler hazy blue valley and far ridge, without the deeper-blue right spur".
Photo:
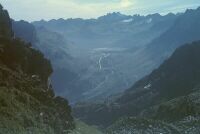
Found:
[{"label": "paler hazy blue valley and far ridge, without the deeper-blue right spur", "polygon": [[[51,50],[59,55],[65,51],[72,57],[68,64],[65,60],[56,62],[61,61],[56,56],[50,59],[53,65],[56,63],[56,66],[60,67],[59,74],[55,76],[61,75],[60,72],[62,77],[63,74],[76,74],[69,83],[54,79],[56,88],[57,85],[62,87],[59,93],[75,103],[103,100],[111,94],[124,91],[149,73],[155,63],[146,55],[138,54],[153,39],[168,30],[177,17],[178,15],[174,14],[127,16],[110,13],[98,19],[42,20],[32,24],[41,40],[38,46],[40,50],[46,51],[48,57],[52,54],[49,52]],[[52,36],[52,33],[60,35],[62,39],[47,38]],[[60,44],[61,41],[64,42]],[[54,45],[50,46],[51,43]],[[64,57],[62,58],[65,59]],[[140,61],[137,61],[138,57]]]}]

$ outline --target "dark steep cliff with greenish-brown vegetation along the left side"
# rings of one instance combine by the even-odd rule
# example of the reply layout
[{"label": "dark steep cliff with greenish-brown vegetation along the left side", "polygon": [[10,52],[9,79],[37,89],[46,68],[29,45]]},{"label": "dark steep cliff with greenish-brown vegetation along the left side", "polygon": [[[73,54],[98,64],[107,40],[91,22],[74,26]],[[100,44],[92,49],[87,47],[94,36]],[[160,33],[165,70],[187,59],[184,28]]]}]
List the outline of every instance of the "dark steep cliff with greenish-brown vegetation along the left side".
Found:
[{"label": "dark steep cliff with greenish-brown vegetation along the left side", "polygon": [[7,11],[0,10],[0,132],[64,134],[74,128],[68,101],[55,96],[50,61],[12,35]]}]

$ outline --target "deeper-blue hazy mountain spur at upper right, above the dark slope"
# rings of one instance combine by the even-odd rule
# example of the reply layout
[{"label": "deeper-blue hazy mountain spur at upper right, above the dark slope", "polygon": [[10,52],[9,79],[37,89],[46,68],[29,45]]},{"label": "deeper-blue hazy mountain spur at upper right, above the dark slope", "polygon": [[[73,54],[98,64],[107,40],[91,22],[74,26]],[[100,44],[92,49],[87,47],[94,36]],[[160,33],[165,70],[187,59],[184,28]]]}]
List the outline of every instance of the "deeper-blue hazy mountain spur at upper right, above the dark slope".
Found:
[{"label": "deeper-blue hazy mountain spur at upper right, above the dark slope", "polygon": [[160,57],[170,56],[173,51],[184,43],[190,43],[200,39],[200,8],[188,9],[181,14],[174,25],[164,32],[159,38],[153,40],[147,47],[147,51],[161,53]]}]

